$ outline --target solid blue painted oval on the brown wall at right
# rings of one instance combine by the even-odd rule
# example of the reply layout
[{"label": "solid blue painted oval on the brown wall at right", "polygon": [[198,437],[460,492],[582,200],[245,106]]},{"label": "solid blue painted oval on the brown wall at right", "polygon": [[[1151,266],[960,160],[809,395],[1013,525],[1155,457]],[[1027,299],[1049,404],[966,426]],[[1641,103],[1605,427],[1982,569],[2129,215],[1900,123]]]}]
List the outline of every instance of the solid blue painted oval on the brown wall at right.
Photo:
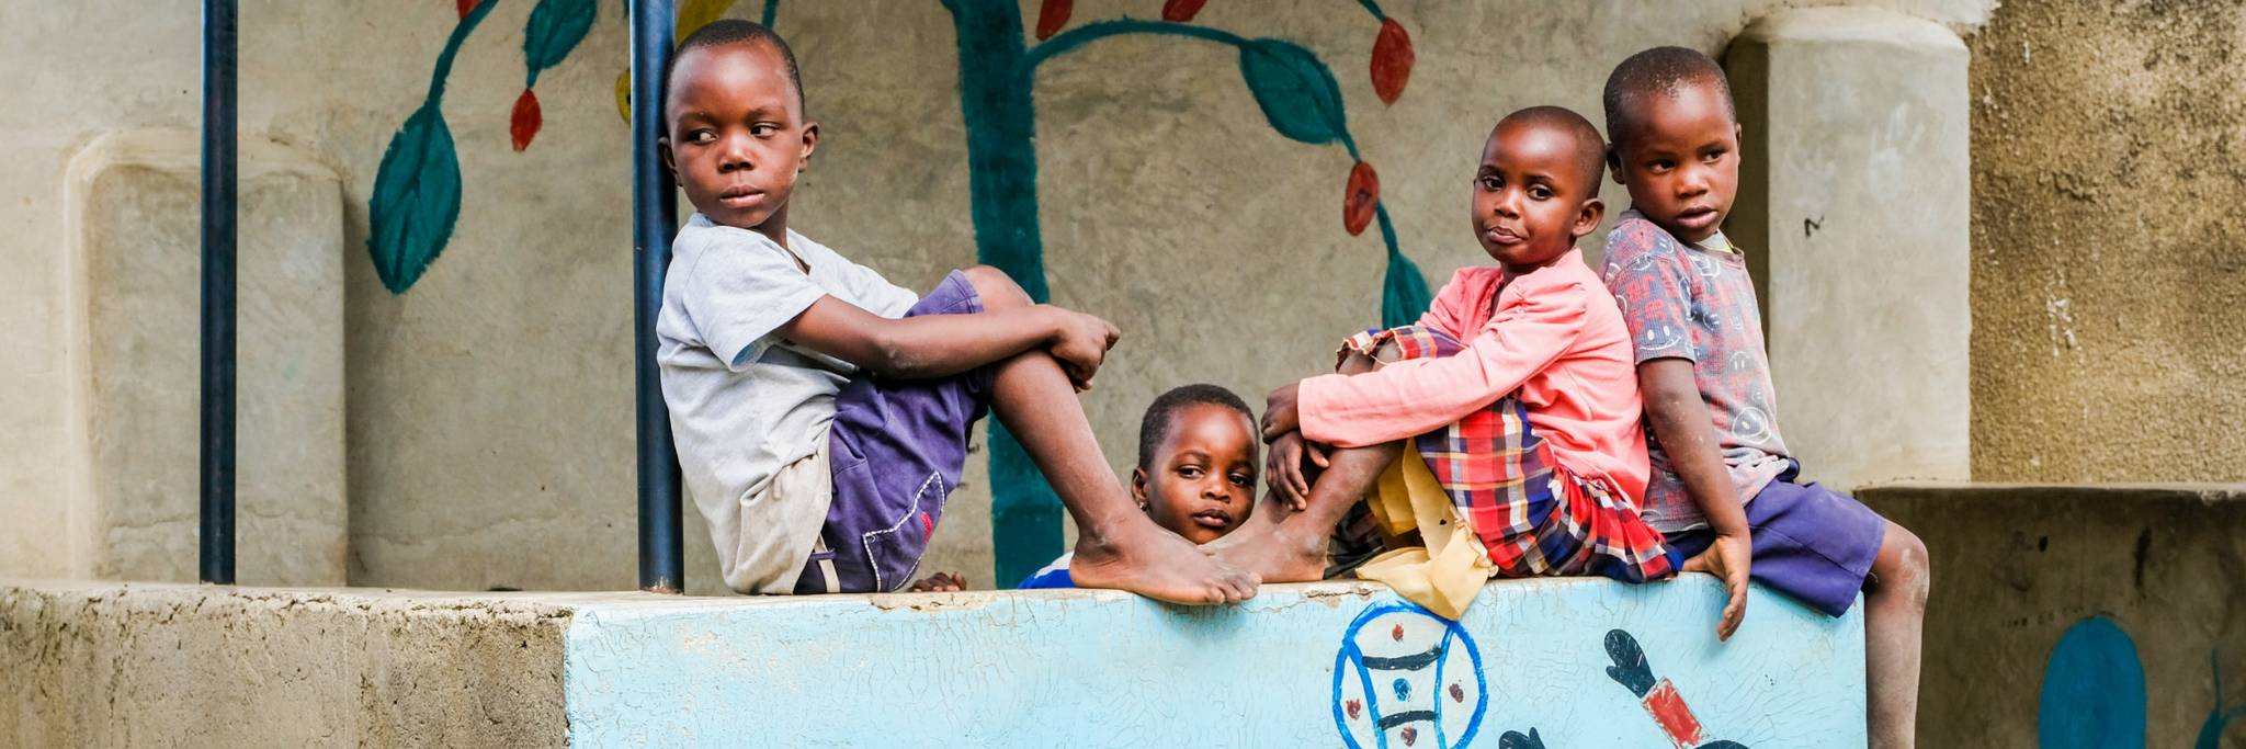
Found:
[{"label": "solid blue painted oval on the brown wall at right", "polygon": [[2051,648],[2035,738],[2042,749],[2145,747],[2145,666],[2113,619],[2078,621]]}]

